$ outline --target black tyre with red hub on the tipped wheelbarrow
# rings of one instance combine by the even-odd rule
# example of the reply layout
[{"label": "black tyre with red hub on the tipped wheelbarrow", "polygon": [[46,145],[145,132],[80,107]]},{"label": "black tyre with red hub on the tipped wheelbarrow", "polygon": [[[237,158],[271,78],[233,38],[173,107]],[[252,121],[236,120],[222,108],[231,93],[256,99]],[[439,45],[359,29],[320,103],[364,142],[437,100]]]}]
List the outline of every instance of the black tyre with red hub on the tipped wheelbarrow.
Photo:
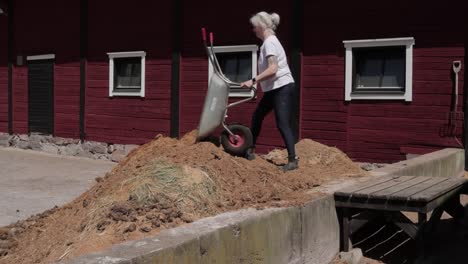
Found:
[{"label": "black tyre with red hub on the tipped wheelbarrow", "polygon": [[229,125],[228,128],[234,136],[224,130],[221,134],[221,145],[231,155],[244,156],[247,149],[253,144],[252,132],[250,132],[248,127],[238,124]]}]

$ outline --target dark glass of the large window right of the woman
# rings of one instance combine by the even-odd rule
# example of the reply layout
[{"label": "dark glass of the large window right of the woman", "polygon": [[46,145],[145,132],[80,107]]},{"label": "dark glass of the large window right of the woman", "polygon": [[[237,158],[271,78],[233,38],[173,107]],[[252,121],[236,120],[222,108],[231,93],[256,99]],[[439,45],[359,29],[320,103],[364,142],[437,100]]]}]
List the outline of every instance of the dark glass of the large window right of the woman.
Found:
[{"label": "dark glass of the large window right of the woman", "polygon": [[353,51],[353,56],[355,58],[354,90],[404,88],[404,47],[360,48]]}]

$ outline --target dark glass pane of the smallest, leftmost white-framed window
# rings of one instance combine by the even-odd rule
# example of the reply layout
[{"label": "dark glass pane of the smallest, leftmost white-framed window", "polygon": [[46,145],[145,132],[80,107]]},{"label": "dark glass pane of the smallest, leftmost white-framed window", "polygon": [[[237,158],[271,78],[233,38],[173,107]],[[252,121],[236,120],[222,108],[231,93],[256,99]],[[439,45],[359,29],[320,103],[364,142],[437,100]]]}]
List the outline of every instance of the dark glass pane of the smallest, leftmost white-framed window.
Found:
[{"label": "dark glass pane of the smallest, leftmost white-framed window", "polygon": [[114,76],[115,89],[140,89],[141,58],[114,59]]}]

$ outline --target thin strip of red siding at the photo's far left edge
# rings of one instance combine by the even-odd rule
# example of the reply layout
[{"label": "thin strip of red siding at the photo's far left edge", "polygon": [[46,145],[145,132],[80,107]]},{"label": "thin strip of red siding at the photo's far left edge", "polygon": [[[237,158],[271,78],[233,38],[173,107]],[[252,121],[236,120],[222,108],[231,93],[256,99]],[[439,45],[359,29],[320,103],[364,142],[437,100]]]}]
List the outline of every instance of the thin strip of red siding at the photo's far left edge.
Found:
[{"label": "thin strip of red siding at the photo's far left edge", "polygon": [[8,22],[0,15],[0,132],[8,132]]}]

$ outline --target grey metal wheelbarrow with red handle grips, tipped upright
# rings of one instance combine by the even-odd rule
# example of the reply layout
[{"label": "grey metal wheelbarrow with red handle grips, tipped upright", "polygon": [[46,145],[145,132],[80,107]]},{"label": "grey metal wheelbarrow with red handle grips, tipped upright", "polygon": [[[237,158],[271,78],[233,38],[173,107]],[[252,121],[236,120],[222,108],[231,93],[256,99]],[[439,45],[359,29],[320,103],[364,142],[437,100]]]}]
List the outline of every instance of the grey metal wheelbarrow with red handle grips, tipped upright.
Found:
[{"label": "grey metal wheelbarrow with red handle grips, tipped upright", "polygon": [[213,50],[213,33],[210,33],[210,45],[208,45],[206,30],[202,28],[202,39],[208,59],[213,65],[213,74],[208,82],[208,91],[198,126],[197,141],[206,139],[219,126],[222,126],[224,130],[221,133],[220,142],[224,150],[234,156],[244,156],[253,145],[252,132],[247,126],[242,124],[228,125],[225,121],[229,108],[254,99],[257,89],[251,87],[250,97],[229,103],[230,88],[240,87],[240,83],[232,82],[223,74]]}]

